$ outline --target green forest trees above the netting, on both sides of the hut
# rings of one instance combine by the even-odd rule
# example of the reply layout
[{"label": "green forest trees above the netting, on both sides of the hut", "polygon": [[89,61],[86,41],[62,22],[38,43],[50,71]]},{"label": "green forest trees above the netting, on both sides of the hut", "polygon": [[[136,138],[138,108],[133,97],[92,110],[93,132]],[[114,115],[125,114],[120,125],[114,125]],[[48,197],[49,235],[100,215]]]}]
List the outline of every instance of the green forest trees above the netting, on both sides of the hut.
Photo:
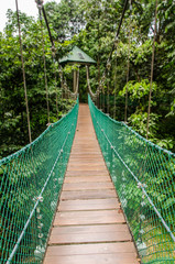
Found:
[{"label": "green forest trees above the netting, on both sides of the hut", "polygon": [[[95,91],[113,45],[123,6],[124,0],[62,0],[59,3],[51,1],[44,4],[56,47],[56,61],[53,61],[52,44],[43,20],[51,122],[62,118],[74,103],[61,89],[58,59],[74,45],[90,55],[97,62],[97,66],[90,67],[90,84]],[[4,31],[0,33],[1,157],[18,151],[29,142],[17,12],[8,10],[7,18]],[[133,0],[132,13],[127,7],[118,48],[112,53],[112,65],[108,76],[109,113],[113,117],[116,99],[114,118],[123,121],[130,54],[128,123],[143,136],[146,135],[154,20],[155,0]],[[20,23],[34,140],[47,124],[41,21],[40,18],[34,20],[20,12]],[[174,26],[175,1],[158,1],[149,140],[173,152],[175,152]],[[54,82],[55,67],[57,88]],[[72,85],[72,66],[64,68],[64,75]],[[86,101],[87,84],[84,67],[80,68],[79,89],[81,100]],[[58,96],[58,117],[55,94]]]}]

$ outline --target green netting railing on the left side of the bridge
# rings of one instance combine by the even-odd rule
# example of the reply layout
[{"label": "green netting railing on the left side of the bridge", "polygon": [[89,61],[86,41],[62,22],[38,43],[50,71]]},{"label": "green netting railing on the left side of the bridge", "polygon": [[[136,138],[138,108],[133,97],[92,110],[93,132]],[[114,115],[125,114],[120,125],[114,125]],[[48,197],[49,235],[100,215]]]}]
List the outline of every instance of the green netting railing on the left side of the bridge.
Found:
[{"label": "green netting railing on the left side of the bridge", "polygon": [[0,263],[42,263],[77,113],[78,101],[32,144],[0,161]]}]

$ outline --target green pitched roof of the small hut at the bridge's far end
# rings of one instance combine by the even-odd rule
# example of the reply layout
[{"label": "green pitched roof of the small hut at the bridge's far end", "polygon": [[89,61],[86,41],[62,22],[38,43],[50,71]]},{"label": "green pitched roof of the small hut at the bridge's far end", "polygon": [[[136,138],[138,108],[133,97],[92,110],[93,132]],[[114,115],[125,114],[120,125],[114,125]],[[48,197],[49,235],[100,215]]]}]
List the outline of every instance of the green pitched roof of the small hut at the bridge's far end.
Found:
[{"label": "green pitched roof of the small hut at the bridge's far end", "polygon": [[96,64],[96,61],[83,52],[79,47],[75,46],[67,56],[59,59],[59,64],[65,63],[80,63],[80,64]]}]

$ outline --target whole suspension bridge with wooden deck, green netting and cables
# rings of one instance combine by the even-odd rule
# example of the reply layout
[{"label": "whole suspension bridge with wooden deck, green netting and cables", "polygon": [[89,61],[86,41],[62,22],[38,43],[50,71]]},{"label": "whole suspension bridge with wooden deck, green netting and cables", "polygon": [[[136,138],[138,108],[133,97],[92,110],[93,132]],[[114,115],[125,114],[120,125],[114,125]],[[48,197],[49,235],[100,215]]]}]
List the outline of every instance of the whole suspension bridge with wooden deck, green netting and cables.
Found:
[{"label": "whole suspension bridge with wooden deck, green netting and cables", "polygon": [[[0,161],[0,262],[175,263],[175,154],[98,109],[105,80],[94,94],[88,67],[88,105],[79,103],[78,79],[79,70],[74,92],[64,85],[73,109],[55,123],[48,113],[35,141]],[[24,90],[30,135],[25,78]]]}]

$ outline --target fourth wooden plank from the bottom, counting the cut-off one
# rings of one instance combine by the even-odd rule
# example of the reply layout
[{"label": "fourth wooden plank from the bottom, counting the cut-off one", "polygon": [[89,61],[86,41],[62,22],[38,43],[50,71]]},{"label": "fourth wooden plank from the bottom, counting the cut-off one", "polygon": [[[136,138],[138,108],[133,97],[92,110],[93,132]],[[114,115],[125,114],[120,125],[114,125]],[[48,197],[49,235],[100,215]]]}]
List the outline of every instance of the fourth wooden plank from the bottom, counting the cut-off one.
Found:
[{"label": "fourth wooden plank from the bottom, counting the cut-off one", "polygon": [[65,200],[59,202],[58,211],[85,211],[118,209],[117,198],[91,199],[91,200]]}]

